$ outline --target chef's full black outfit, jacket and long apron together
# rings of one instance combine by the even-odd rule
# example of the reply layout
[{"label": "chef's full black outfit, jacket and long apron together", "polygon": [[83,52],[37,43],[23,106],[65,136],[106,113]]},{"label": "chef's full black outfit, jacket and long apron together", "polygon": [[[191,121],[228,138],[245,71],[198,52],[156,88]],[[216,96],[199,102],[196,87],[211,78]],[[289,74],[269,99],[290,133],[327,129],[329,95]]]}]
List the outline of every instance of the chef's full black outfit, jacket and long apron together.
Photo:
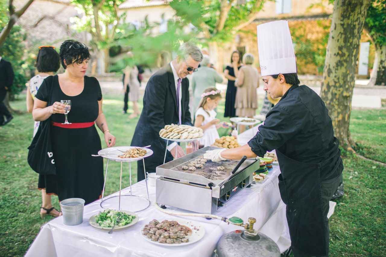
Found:
[{"label": "chef's full black outfit, jacket and long apron together", "polygon": [[287,205],[295,256],[328,256],[328,208],[322,201],[327,195],[322,194],[321,182],[334,181],[343,164],[322,99],[305,85],[291,86],[248,145],[257,156],[276,149],[279,191]]}]

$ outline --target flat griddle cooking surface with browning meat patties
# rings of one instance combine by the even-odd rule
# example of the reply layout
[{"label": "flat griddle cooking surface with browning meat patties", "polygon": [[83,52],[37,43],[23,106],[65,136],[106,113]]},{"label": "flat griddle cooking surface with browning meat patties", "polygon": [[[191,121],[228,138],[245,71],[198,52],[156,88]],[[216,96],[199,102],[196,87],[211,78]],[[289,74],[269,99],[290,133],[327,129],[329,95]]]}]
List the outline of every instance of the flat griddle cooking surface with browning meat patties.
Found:
[{"label": "flat griddle cooking surface with browning meat patties", "polygon": [[[198,168],[196,167],[195,171],[190,171],[190,170],[183,170],[182,166],[188,166],[188,164],[191,161],[195,161],[196,159],[203,159],[203,156],[198,156],[195,157],[194,159],[191,159],[189,161],[186,161],[176,167],[173,167],[172,170],[174,171],[181,171],[181,172],[186,172],[186,173],[191,173],[191,174],[197,174],[200,176],[203,176],[204,178],[207,178],[211,181],[219,181],[219,180],[224,180],[229,177],[230,172],[236,167],[236,165],[239,163],[237,160],[226,160],[226,161],[220,161],[220,162],[212,162],[208,160],[205,164],[203,164],[203,168]],[[219,170],[218,167],[223,166],[223,170]],[[248,164],[245,162],[239,167],[240,169],[244,169],[247,167]]]}]

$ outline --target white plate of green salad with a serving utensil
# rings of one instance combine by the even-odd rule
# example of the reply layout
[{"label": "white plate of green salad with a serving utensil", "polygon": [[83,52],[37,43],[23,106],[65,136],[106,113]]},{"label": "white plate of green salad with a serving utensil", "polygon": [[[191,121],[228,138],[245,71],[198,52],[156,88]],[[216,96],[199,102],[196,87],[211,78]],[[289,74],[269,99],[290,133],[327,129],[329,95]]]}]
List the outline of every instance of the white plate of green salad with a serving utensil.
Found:
[{"label": "white plate of green salad with a serving utensil", "polygon": [[118,214],[122,214],[123,217],[114,229],[130,227],[137,223],[139,220],[137,213],[124,210],[118,211],[106,209],[104,211],[100,211],[98,214],[91,216],[88,219],[88,223],[96,228],[111,229],[114,226],[114,223],[117,221]]}]

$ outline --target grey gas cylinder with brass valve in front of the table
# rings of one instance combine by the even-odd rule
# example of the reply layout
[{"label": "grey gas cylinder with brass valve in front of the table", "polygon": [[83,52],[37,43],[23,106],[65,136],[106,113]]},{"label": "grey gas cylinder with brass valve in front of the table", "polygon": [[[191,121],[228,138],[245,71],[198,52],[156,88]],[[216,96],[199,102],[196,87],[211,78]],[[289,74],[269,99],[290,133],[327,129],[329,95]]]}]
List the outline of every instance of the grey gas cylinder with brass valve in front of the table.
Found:
[{"label": "grey gas cylinder with brass valve in front of the table", "polygon": [[[249,218],[248,221],[250,224],[248,229],[235,230],[220,238],[216,247],[216,256],[280,257],[278,245],[271,238],[253,229],[253,223],[256,222],[256,219]],[[235,224],[234,222],[231,223]]]}]

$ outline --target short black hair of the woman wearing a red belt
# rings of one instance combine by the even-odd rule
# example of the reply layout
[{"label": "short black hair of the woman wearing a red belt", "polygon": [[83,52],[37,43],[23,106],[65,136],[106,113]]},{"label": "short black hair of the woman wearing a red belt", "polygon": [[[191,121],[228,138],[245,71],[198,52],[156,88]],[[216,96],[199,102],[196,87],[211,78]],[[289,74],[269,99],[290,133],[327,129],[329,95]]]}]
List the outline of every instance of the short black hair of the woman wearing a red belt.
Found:
[{"label": "short black hair of the woman wearing a red belt", "polygon": [[66,63],[68,65],[72,63],[81,64],[84,60],[90,59],[90,52],[85,44],[70,39],[61,44],[59,56],[63,68],[66,69]]}]

